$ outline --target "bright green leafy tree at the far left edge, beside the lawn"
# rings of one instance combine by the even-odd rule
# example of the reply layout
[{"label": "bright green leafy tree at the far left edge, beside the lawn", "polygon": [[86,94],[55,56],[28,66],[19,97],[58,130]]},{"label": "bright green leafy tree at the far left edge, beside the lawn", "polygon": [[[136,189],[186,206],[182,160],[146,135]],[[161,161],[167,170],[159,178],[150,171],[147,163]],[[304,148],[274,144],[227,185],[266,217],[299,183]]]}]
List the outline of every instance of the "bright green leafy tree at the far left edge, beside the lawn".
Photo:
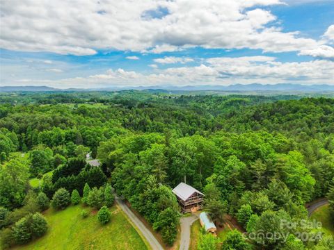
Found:
[{"label": "bright green leafy tree at the far left edge, beside the lawn", "polygon": [[0,206],[13,209],[22,205],[29,180],[29,167],[11,159],[0,165]]}]

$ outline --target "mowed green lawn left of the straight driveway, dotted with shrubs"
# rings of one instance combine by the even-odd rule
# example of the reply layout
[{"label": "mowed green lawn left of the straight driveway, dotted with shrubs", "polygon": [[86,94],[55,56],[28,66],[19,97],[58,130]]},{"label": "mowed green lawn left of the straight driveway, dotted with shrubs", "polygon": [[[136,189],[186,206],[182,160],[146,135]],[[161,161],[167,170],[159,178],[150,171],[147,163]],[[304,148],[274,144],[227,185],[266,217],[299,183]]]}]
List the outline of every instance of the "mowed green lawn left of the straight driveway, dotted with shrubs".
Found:
[{"label": "mowed green lawn left of the straight driveway, dotted with shrubs", "polygon": [[[80,214],[83,209],[90,211],[85,219]],[[113,206],[111,213],[110,222],[102,226],[91,208],[77,205],[62,211],[49,209],[45,213],[47,234],[13,249],[148,249],[120,208]]]}]

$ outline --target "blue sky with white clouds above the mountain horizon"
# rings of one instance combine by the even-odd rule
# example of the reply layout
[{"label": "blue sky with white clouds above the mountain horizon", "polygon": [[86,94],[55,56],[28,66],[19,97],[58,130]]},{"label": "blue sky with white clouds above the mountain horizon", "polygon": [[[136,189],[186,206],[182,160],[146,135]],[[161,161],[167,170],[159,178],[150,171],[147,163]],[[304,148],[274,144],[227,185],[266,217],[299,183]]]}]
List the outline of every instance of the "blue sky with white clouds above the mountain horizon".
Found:
[{"label": "blue sky with white clouds above the mountain horizon", "polygon": [[334,85],[334,0],[0,0],[0,86]]}]

